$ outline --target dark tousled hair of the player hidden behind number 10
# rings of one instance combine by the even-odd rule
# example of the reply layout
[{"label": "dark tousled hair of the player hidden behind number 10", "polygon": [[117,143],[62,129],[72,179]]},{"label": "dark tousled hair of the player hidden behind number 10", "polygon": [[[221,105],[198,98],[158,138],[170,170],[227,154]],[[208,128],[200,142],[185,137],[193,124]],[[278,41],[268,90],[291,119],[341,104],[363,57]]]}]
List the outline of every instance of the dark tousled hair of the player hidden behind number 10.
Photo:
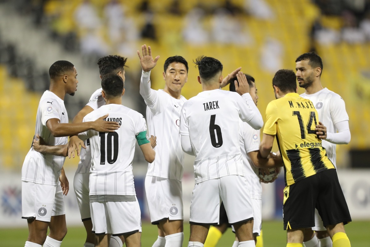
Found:
[{"label": "dark tousled hair of the player hidden behind number 10", "polygon": [[98,60],[99,73],[104,76],[108,73],[117,74],[124,70],[127,58],[118,55],[109,55]]}]

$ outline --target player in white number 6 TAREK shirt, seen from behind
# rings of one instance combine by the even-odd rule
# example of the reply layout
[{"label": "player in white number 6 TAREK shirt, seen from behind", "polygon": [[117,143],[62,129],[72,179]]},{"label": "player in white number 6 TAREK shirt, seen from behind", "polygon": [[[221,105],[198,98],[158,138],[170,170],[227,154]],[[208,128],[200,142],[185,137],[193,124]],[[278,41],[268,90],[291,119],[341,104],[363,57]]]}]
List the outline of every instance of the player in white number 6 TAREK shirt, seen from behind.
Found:
[{"label": "player in white number 6 TAREK shirt, seen from behind", "polygon": [[263,120],[249,94],[246,77],[239,72],[238,93],[220,90],[222,64],[212,57],[198,57],[198,82],[202,92],[182,107],[182,149],[195,155],[195,186],[190,206],[188,247],[203,247],[210,225],[219,222],[220,197],[234,225],[239,246],[255,246],[253,208],[243,173],[239,119],[260,129]]}]

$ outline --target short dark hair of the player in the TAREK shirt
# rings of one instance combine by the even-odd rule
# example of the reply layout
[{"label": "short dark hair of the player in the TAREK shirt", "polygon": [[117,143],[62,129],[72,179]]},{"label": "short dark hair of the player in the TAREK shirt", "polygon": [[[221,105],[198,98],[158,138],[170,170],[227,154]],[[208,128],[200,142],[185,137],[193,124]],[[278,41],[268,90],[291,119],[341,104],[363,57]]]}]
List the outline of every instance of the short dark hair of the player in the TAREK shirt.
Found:
[{"label": "short dark hair of the player in the TAREK shirt", "polygon": [[223,69],[222,63],[213,57],[201,56],[193,63],[195,63],[195,67],[198,67],[199,76],[204,80],[211,79]]}]

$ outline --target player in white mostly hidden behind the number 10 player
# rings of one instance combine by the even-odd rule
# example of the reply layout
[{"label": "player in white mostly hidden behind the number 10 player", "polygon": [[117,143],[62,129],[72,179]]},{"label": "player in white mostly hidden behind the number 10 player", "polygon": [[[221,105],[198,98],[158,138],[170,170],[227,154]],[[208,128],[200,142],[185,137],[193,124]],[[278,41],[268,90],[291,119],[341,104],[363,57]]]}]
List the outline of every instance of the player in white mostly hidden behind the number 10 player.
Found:
[{"label": "player in white mostly hidden behind the number 10 player", "polygon": [[[125,70],[127,58],[118,55],[105,56],[98,60],[100,78],[106,74],[114,73],[120,76],[125,81]],[[86,106],[81,109],[74,117],[74,123],[81,123],[83,118],[93,110],[97,110],[101,106],[105,105],[104,98],[101,94],[102,89],[97,89],[90,97],[89,102]],[[80,209],[81,220],[86,230],[86,241],[84,247],[94,246],[95,236],[92,233],[92,221],[90,213],[90,201],[89,201],[89,173],[91,167],[91,152],[90,152],[90,140],[85,141],[85,145],[79,150],[79,144],[81,140],[77,136],[71,137],[69,143],[69,156],[74,156],[75,150],[80,155],[80,162],[73,180],[73,188],[77,197],[78,208]],[[122,247],[121,239],[117,236],[110,238],[111,247]]]}]

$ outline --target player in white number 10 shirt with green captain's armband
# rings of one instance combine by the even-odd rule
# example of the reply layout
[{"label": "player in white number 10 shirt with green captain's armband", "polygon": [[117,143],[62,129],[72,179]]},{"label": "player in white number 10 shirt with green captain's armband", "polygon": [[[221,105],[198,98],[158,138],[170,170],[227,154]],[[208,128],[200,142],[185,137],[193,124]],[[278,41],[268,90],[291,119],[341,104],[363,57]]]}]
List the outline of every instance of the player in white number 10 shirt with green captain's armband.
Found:
[{"label": "player in white number 10 shirt with green captain's armband", "polygon": [[145,160],[152,163],[147,125],[142,114],[122,106],[124,83],[120,76],[107,74],[101,81],[105,105],[87,114],[84,121],[109,113],[107,120],[118,121],[117,131],[86,131],[78,136],[90,139],[90,208],[95,246],[108,247],[108,235],[120,236],[126,246],[140,246],[140,207],[136,198],[132,161],[137,141]]}]

